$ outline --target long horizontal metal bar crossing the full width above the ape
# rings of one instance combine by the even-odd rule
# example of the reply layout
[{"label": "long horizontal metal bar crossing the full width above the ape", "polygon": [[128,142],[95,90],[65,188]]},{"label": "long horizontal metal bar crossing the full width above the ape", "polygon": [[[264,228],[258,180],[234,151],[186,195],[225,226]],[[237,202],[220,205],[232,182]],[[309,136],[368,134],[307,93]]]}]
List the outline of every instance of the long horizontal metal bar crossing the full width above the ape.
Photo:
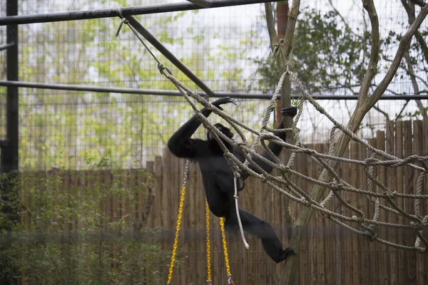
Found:
[{"label": "long horizontal metal bar crossing the full width above the ape", "polygon": [[[136,88],[114,88],[99,86],[78,86],[70,84],[52,84],[52,83],[34,83],[25,81],[0,81],[0,86],[16,86],[22,88],[37,88],[51,90],[69,90],[69,91],[87,91],[103,93],[125,93],[139,95],[164,95],[180,96],[180,92],[173,90],[153,90]],[[198,92],[203,95],[203,92]],[[214,98],[230,97],[236,99],[263,99],[270,100],[272,94],[263,93],[232,93],[232,92],[214,92]],[[292,95],[292,98],[299,98],[299,95]],[[356,95],[314,95],[317,100],[358,100]],[[380,100],[428,100],[428,95],[383,95]]]}]

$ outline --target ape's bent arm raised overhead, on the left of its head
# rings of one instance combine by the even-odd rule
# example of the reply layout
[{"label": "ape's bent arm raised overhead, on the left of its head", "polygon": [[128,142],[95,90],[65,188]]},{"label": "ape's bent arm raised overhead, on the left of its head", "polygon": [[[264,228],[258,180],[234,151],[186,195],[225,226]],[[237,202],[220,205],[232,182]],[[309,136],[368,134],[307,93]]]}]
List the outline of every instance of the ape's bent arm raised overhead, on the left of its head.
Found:
[{"label": "ape's bent arm raised overhead, on the left of its head", "polygon": [[[225,103],[234,103],[235,101],[231,98],[225,97],[215,100],[212,104],[217,108],[220,108],[220,105]],[[220,110],[223,110],[220,108]],[[211,110],[203,108],[200,112],[206,117],[211,113]],[[205,140],[191,139],[190,137],[195,133],[195,131],[200,126],[201,122],[193,115],[190,120],[188,120],[184,125],[182,125],[168,140],[168,148],[170,152],[177,157],[187,157],[195,158],[209,155],[210,149],[208,142]]]}]

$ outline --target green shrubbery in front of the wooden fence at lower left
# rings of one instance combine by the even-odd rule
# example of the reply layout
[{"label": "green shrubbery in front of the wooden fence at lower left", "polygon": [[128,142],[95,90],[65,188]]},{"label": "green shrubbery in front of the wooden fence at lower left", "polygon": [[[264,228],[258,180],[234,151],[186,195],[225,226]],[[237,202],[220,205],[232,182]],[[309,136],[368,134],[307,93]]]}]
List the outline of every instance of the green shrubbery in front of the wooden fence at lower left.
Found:
[{"label": "green shrubbery in front of the wooden fence at lower left", "polygon": [[[22,223],[0,234],[0,277],[23,284],[161,284],[170,252],[139,229],[138,177],[145,172],[29,172],[21,175]],[[106,215],[116,199],[114,214]],[[141,206],[140,206],[141,207]],[[112,209],[113,210],[113,209]],[[16,270],[14,270],[16,269]]]}]

